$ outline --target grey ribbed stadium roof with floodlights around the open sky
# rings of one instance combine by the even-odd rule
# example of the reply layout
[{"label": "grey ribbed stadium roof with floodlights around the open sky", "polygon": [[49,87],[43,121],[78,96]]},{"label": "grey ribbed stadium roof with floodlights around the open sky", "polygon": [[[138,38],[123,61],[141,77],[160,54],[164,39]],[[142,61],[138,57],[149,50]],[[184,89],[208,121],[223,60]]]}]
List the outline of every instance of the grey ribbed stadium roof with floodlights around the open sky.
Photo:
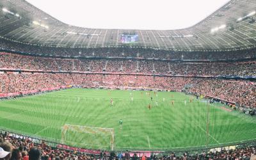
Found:
[{"label": "grey ribbed stadium roof with floodlights around the open sky", "polygon": [[132,47],[173,51],[230,51],[256,45],[255,0],[229,1],[195,26],[177,30],[79,28],[54,19],[24,0],[1,0],[0,8],[0,36],[26,44],[122,47],[120,37],[128,33],[139,36],[138,44]]}]

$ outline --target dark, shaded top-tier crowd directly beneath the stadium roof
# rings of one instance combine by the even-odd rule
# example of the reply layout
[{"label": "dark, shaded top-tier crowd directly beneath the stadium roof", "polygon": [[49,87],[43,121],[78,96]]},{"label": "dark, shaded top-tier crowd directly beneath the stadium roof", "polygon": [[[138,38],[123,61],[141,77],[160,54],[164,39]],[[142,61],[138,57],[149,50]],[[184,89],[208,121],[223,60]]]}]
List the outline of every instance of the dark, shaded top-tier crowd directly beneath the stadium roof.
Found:
[{"label": "dark, shaded top-tier crowd directly beneath the stadium roof", "polygon": [[201,51],[183,52],[141,47],[105,47],[105,48],[77,48],[77,47],[47,47],[42,45],[19,44],[0,39],[0,49],[13,52],[24,52],[34,55],[63,56],[63,57],[119,57],[119,58],[156,58],[161,60],[240,60],[256,58],[255,49],[250,51]]}]

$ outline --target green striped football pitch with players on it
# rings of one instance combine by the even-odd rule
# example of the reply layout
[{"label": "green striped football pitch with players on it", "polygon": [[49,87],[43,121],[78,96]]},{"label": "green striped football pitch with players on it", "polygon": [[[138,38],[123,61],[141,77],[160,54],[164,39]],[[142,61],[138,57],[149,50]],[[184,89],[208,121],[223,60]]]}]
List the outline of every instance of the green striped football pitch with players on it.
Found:
[{"label": "green striped football pitch with players on it", "polygon": [[[111,134],[104,128],[111,128],[115,132],[115,150],[221,146],[256,138],[255,117],[227,111],[223,104],[208,104],[184,93],[147,93],[150,95],[146,91],[72,88],[1,100],[0,127],[45,140],[62,139],[67,145],[100,149],[110,148]],[[67,124],[99,130],[71,127],[63,134],[61,129]]]}]

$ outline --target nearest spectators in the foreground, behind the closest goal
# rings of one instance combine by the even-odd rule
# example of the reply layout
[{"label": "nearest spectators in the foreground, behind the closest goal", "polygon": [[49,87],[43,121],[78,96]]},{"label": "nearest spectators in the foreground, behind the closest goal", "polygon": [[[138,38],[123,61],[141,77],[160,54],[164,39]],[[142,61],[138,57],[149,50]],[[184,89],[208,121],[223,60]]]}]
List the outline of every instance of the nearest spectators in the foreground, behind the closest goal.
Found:
[{"label": "nearest spectators in the foreground, behind the closest goal", "polygon": [[[1,150],[3,148],[3,150]],[[227,159],[227,160],[246,160],[256,159],[255,146],[253,147],[239,147],[236,149],[225,150],[223,148],[220,152],[217,150],[202,152],[200,154],[189,154],[185,152],[182,156],[176,156],[175,153],[167,154],[165,156],[157,156],[151,154],[147,157],[146,154],[142,154],[141,157],[135,153],[129,152],[100,152],[100,154],[85,154],[79,152],[79,150],[63,150],[57,147],[50,147],[42,141],[42,143],[35,143],[33,139],[28,137],[17,138],[10,135],[8,132],[0,134],[0,159],[4,160],[59,160],[59,159],[86,159],[86,160],[112,160],[112,159],[124,159],[124,160],[172,160],[172,159]]]}]

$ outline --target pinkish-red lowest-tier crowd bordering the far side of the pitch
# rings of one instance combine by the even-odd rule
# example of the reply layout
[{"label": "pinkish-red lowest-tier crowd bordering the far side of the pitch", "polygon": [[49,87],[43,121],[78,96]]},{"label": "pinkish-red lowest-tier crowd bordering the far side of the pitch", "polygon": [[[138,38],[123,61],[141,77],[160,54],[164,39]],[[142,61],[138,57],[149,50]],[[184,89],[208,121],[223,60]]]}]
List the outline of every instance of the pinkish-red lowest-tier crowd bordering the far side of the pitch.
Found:
[{"label": "pinkish-red lowest-tier crowd bordering the far side of the pitch", "polygon": [[119,74],[0,72],[0,93],[44,90],[68,85],[82,87],[161,89],[181,92],[191,85],[189,92],[256,107],[256,84],[251,81],[198,77],[136,76]]}]

